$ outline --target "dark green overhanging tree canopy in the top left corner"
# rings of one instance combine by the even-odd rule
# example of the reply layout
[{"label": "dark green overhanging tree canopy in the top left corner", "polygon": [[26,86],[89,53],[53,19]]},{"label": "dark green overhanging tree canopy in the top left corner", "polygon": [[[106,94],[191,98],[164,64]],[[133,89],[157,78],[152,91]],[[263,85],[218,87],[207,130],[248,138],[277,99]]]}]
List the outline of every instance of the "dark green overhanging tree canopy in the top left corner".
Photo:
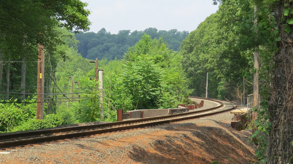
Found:
[{"label": "dark green overhanging tree canopy in the top left corner", "polygon": [[5,57],[18,56],[19,52],[26,52],[23,55],[28,56],[35,52],[38,43],[49,50],[61,42],[56,27],[75,33],[88,31],[91,22],[86,5],[79,0],[1,1],[0,51]]}]

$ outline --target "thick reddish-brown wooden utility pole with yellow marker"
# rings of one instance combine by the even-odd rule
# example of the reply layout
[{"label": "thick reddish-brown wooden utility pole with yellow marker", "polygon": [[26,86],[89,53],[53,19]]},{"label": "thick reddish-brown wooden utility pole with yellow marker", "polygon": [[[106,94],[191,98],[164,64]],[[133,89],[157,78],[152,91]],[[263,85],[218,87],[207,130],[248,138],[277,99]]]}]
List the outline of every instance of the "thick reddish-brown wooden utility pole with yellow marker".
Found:
[{"label": "thick reddish-brown wooden utility pole with yellow marker", "polygon": [[37,80],[37,119],[44,118],[44,83],[45,83],[45,51],[44,46],[38,46],[38,80]]}]

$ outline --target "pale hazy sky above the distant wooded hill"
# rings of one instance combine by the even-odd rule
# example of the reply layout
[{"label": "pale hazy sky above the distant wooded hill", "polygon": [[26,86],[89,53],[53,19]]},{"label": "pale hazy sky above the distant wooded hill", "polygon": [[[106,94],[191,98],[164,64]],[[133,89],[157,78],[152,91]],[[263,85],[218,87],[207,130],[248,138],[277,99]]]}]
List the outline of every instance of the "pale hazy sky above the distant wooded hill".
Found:
[{"label": "pale hazy sky above the distant wooded hill", "polygon": [[81,0],[92,12],[90,31],[105,28],[111,34],[119,30],[143,31],[178,29],[193,31],[218,5],[212,0]]}]

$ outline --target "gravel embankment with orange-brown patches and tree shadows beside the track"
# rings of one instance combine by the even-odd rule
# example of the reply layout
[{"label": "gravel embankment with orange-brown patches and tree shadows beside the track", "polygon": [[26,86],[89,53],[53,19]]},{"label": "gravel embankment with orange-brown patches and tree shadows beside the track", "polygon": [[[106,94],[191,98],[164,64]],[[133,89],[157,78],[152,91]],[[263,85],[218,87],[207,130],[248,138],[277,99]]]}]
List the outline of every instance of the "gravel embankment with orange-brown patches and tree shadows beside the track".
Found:
[{"label": "gravel embankment with orange-brown patches and tree shadows beside the track", "polygon": [[12,147],[0,150],[8,152],[0,154],[0,163],[251,163],[255,149],[248,139],[251,130],[232,129],[232,117],[225,112],[154,127]]}]

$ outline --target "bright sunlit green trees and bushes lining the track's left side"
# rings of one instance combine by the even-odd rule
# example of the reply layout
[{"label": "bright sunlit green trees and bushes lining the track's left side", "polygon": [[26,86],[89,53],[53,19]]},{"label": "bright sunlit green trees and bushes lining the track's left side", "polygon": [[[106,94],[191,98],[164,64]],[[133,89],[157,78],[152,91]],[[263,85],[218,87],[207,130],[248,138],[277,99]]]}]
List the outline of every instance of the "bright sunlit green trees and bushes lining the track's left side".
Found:
[{"label": "bright sunlit green trees and bushes lining the track's left side", "polygon": [[[56,51],[52,53],[47,52],[46,67],[54,71],[46,68],[45,76],[49,77],[46,77],[45,84],[52,87],[45,91],[70,93],[71,88],[68,86],[71,81],[68,77],[73,76],[73,81],[79,82],[79,85],[74,83],[73,92],[82,92],[78,94],[81,98],[74,98],[71,102],[70,95],[48,95],[46,98],[50,101],[45,105],[47,115],[42,121],[35,119],[35,99],[28,97],[25,104],[17,103],[19,100],[15,98],[11,99],[10,102],[14,103],[1,104],[1,109],[5,109],[0,112],[3,118],[1,131],[35,130],[90,121],[116,121],[117,109],[126,112],[135,109],[173,108],[177,103],[188,101],[187,97],[192,90],[188,89],[189,80],[183,71],[182,56],[170,50],[162,38],[151,39],[151,36],[144,34],[141,40],[129,48],[124,59],[99,60],[98,68],[104,70],[104,101],[100,102],[101,90],[97,90],[97,83],[90,80],[95,75],[94,64],[77,53],[77,49],[70,47],[77,42],[69,39],[73,37],[71,33],[62,28],[57,30],[62,34],[59,39],[65,44],[57,45]],[[60,52],[63,52],[62,57]],[[35,80],[30,83],[35,83]],[[19,92],[17,88],[19,89],[16,86],[13,91]],[[36,88],[30,89],[35,91]],[[100,103],[104,107],[104,120],[100,119]]]}]

